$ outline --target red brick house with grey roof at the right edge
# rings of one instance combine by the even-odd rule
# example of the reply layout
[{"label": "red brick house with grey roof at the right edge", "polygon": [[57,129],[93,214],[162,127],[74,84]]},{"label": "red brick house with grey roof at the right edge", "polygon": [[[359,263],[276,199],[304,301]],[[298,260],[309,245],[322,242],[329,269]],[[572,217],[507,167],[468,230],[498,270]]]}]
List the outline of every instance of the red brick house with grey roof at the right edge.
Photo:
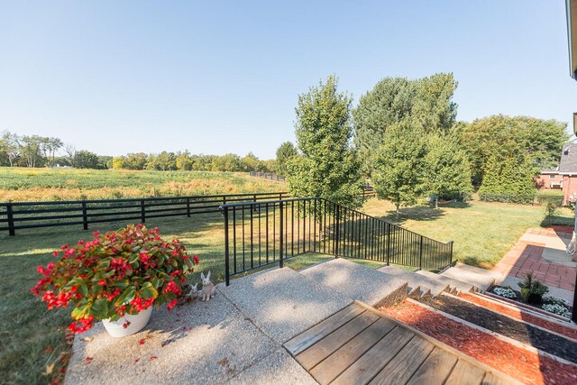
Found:
[{"label": "red brick house with grey roof at the right edge", "polygon": [[542,170],[536,187],[541,191],[563,191],[563,204],[577,199],[577,143],[563,146],[559,166]]}]

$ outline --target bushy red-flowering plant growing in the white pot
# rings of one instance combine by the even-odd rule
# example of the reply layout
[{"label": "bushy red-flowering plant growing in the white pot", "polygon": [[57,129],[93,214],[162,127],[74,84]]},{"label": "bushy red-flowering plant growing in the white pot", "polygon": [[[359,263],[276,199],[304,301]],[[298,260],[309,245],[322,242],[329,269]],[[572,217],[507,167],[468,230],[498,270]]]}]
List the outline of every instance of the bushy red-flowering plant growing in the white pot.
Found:
[{"label": "bushy red-flowering plant growing in the white pot", "polygon": [[179,240],[166,242],[158,228],[144,225],[94,236],[92,241],[60,246],[53,252],[60,260],[39,266],[42,278],[31,289],[49,309],[74,304],[71,332],[84,333],[95,319],[116,321],[152,305],[168,303],[169,310],[176,306],[186,273],[198,264]]}]

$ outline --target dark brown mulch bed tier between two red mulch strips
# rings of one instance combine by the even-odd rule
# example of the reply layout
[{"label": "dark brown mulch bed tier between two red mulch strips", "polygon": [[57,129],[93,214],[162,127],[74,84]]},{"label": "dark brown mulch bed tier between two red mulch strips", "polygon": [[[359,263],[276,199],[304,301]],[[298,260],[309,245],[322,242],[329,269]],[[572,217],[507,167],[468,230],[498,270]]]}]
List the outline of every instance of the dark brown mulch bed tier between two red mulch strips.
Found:
[{"label": "dark brown mulch bed tier between two red mulch strips", "polygon": [[546,332],[532,325],[527,325],[508,316],[495,313],[484,307],[473,305],[470,302],[439,296],[422,299],[421,302],[435,307],[444,313],[457,316],[475,325],[480,325],[499,335],[505,335],[524,344],[536,347],[546,353],[554,354],[567,361],[577,363],[577,343],[559,335]]}]

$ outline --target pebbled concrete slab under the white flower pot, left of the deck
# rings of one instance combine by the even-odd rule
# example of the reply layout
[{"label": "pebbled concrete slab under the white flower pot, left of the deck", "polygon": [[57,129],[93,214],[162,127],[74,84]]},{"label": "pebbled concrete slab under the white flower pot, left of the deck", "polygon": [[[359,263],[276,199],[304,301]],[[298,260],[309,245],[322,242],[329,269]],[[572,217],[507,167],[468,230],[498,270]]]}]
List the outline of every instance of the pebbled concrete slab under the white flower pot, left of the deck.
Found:
[{"label": "pebbled concrete slab under the white flower pot, left of the deck", "polygon": [[154,310],[141,332],[108,335],[102,323],[77,335],[66,383],[218,383],[273,354],[270,341],[222,295]]}]

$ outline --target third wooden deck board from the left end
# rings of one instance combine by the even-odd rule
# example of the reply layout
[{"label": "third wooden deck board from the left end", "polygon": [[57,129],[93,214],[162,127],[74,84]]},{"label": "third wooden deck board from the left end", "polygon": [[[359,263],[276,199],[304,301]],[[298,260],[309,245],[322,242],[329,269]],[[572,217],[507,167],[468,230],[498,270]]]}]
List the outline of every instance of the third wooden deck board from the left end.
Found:
[{"label": "third wooden deck board from the left end", "polygon": [[386,320],[378,320],[362,331],[361,334],[354,337],[353,340],[331,354],[325,361],[316,365],[310,371],[310,374],[320,384],[331,382],[351,366],[353,362],[361,358],[381,338],[391,333],[394,327],[394,324]]}]

